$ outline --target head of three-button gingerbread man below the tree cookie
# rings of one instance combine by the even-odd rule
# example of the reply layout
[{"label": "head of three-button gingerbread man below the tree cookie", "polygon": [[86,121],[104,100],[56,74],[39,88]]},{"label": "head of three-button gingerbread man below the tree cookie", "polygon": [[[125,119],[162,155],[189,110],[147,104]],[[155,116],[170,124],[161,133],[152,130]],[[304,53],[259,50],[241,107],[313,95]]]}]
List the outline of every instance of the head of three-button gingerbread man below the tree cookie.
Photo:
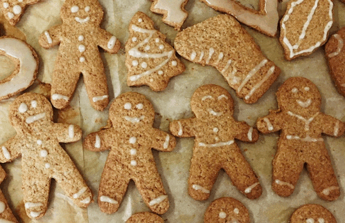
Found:
[{"label": "head of three-button gingerbread man below the tree cookie", "polygon": [[136,128],[139,126],[152,126],[154,109],[150,101],[139,93],[124,93],[117,97],[109,108],[109,119],[114,128],[123,126]]}]

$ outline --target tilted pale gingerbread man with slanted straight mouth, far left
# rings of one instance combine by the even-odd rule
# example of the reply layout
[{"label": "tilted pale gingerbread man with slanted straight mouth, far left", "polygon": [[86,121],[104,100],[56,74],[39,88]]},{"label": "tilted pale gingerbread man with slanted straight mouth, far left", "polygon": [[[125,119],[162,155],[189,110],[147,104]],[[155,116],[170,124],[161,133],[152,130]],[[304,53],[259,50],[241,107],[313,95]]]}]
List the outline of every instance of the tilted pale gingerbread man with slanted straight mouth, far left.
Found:
[{"label": "tilted pale gingerbread man with slanted straight mouth, far left", "polygon": [[76,142],[82,130],[75,125],[53,122],[48,99],[25,93],[10,106],[10,122],[17,135],[0,145],[0,162],[21,156],[24,204],[28,217],[46,213],[51,178],[80,207],[89,206],[92,194],[60,142]]}]

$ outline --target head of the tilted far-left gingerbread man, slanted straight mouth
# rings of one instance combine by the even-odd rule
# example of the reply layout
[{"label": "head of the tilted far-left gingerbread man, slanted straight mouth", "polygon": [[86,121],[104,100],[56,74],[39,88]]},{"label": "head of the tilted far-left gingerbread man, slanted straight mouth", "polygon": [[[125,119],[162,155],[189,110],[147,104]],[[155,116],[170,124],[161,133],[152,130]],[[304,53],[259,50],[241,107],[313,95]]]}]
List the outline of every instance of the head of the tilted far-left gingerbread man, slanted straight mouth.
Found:
[{"label": "head of the tilted far-left gingerbread man, slanted straight mouth", "polygon": [[10,122],[18,133],[53,121],[53,108],[43,95],[25,93],[10,106]]}]

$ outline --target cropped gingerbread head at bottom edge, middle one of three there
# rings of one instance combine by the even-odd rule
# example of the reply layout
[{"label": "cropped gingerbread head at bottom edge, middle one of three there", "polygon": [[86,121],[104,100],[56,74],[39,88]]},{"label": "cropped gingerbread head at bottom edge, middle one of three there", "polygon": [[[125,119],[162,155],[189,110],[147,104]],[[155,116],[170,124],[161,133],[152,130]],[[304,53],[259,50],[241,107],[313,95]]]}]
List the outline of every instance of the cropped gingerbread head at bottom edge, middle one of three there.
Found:
[{"label": "cropped gingerbread head at bottom edge, middle one of three there", "polygon": [[249,211],[232,197],[221,197],[213,201],[206,209],[204,223],[249,223]]}]

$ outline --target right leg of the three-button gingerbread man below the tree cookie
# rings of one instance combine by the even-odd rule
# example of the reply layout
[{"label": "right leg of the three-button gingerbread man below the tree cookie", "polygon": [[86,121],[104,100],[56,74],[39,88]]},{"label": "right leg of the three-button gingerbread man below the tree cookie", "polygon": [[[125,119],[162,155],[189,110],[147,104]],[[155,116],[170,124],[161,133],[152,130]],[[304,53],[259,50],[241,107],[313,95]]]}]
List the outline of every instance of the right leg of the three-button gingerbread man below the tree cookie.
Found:
[{"label": "right leg of the three-button gingerbread man below the tree cookie", "polygon": [[146,163],[145,171],[139,173],[134,179],[135,185],[138,188],[145,204],[159,215],[166,213],[169,209],[169,200],[166,191],[164,190],[161,176],[157,171],[157,167],[153,163]]}]

